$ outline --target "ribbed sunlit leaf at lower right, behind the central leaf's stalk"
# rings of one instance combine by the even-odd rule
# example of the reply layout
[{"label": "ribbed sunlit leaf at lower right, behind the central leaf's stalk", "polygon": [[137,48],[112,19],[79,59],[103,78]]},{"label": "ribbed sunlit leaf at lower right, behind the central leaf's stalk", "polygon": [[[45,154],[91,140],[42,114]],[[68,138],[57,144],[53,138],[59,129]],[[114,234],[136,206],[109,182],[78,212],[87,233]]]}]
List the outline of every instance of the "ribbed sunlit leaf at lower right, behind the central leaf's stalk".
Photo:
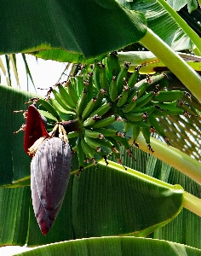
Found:
[{"label": "ribbed sunlit leaf at lower right, behind the central leaf's stalk", "polygon": [[[138,151],[135,151],[134,156],[136,161],[132,164],[129,157],[126,156],[126,151],[123,150],[121,153],[124,155],[124,165],[133,168],[135,167],[140,172],[158,178],[159,180],[163,180],[166,183],[179,183],[186,191],[201,198],[201,185],[199,183],[196,183],[192,178],[187,177],[163,161],[158,160],[153,155],[150,154],[146,160],[143,160],[143,158],[141,158],[142,155],[139,155]],[[113,157],[112,160],[114,160]],[[139,161],[141,162],[141,166],[143,166],[143,170],[141,169],[141,166],[138,166]],[[175,241],[201,249],[200,230],[201,218],[196,214],[183,209],[176,218],[169,222],[169,224],[164,225],[162,228],[154,231],[148,236],[156,239]]]}]

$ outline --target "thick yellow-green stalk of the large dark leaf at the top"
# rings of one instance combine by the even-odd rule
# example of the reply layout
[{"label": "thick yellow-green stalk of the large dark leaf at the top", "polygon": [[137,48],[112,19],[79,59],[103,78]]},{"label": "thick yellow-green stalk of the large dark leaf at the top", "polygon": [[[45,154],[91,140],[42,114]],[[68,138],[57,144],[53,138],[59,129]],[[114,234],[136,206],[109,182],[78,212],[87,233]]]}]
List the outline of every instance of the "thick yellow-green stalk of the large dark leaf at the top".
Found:
[{"label": "thick yellow-green stalk of the large dark leaf at the top", "polygon": [[201,102],[200,76],[192,67],[187,65],[186,61],[182,60],[180,55],[175,53],[168,44],[165,44],[164,41],[149,28],[147,29],[145,37],[141,39],[141,44],[144,44],[147,49],[151,50],[172,73],[175,73],[175,76],[181,80],[181,83],[197,97],[199,102]]}]

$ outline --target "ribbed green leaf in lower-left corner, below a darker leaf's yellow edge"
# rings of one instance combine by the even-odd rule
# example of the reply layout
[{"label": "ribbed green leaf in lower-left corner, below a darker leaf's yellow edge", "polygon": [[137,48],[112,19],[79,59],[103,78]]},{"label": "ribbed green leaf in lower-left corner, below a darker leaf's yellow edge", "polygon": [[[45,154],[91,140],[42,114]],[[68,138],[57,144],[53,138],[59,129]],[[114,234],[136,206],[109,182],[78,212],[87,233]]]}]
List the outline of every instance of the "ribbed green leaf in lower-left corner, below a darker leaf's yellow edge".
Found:
[{"label": "ribbed green leaf in lower-left corner, below a darker leaf's yellow edge", "polygon": [[0,246],[24,245],[28,230],[30,187],[18,189],[0,188]]}]

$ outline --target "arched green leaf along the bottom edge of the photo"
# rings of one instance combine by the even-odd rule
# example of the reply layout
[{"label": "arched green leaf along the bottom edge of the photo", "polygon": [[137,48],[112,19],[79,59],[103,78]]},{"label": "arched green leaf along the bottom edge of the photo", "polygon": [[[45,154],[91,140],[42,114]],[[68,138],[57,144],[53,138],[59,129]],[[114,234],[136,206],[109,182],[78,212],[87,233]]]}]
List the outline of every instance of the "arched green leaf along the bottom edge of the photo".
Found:
[{"label": "arched green leaf along the bottom edge of the photo", "polygon": [[16,255],[95,255],[95,256],[121,256],[121,255],[161,255],[188,256],[201,255],[201,251],[170,241],[159,241],[135,237],[100,237],[66,241],[38,247],[26,253]]}]

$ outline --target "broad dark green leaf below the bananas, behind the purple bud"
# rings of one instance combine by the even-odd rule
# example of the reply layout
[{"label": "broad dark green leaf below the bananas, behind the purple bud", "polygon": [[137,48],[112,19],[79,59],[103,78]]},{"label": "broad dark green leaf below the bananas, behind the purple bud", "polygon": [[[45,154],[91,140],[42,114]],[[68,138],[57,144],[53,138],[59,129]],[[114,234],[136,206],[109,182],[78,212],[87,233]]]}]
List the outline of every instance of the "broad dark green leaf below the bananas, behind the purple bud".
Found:
[{"label": "broad dark green leaf below the bananas, behind the purple bud", "polygon": [[28,244],[72,239],[72,230],[74,239],[145,236],[175,218],[181,201],[180,187],[158,183],[122,166],[117,169],[110,164],[107,170],[102,162],[84,170],[79,180],[71,177],[61,212],[48,236],[40,233],[31,213]]}]

